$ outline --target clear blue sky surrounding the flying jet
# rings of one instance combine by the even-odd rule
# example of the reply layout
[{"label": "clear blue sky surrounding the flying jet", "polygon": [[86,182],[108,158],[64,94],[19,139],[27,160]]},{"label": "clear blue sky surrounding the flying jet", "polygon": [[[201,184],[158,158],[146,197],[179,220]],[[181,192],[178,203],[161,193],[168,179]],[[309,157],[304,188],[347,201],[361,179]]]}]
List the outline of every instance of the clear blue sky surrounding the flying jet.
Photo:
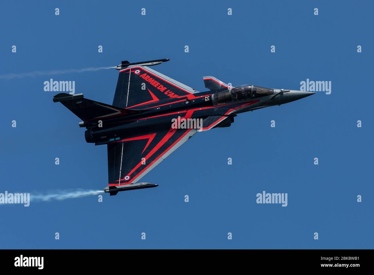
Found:
[{"label": "clear blue sky surrounding the flying jet", "polygon": [[[154,69],[199,91],[211,75],[295,90],[307,78],[330,80],[332,92],[198,133],[142,178],[157,188],[102,203],[2,205],[0,248],[374,248],[374,4],[337,3],[1,1],[0,74],[170,58]],[[85,142],[80,119],[43,82],[74,80],[76,93],[111,104],[117,77],[112,69],[0,79],[0,193],[102,190],[106,146]],[[263,190],[288,193],[288,206],[256,204]]]}]

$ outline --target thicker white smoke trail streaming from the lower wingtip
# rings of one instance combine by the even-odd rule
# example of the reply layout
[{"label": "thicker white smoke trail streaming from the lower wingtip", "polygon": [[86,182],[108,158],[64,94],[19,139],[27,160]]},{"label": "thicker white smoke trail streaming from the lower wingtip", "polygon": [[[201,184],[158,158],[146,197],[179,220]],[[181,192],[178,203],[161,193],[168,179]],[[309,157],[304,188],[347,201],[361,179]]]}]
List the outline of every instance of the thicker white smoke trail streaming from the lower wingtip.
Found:
[{"label": "thicker white smoke trail streaming from the lower wingtip", "polygon": [[41,201],[62,201],[64,199],[82,198],[85,196],[98,195],[104,193],[104,190],[73,190],[73,191],[56,191],[47,194],[30,194],[30,202]]}]

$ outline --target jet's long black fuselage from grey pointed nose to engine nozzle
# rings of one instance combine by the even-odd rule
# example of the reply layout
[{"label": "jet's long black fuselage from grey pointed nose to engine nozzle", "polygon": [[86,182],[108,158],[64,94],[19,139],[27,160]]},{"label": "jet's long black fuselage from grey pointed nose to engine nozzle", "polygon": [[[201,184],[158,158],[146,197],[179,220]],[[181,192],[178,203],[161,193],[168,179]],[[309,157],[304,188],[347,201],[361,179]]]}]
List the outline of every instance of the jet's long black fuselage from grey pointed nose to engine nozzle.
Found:
[{"label": "jet's long black fuselage from grey pointed nose to engine nozzle", "polygon": [[[253,85],[198,92],[174,102],[159,101],[156,106],[138,109],[139,113],[103,120],[102,127],[88,128],[85,137],[88,143],[106,144],[134,133],[171,126],[173,119],[183,118],[188,112],[193,112],[195,119],[223,115],[233,117],[238,113],[289,103],[312,94]],[[233,110],[227,114],[228,109]]]}]

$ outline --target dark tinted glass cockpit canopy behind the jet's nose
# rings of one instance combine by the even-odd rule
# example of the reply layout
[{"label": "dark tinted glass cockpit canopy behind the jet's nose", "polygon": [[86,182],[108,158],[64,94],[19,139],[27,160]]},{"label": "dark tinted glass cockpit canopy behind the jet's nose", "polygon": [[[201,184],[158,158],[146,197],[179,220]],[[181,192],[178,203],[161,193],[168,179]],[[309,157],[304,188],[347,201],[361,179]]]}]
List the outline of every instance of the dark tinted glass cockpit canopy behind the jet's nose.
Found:
[{"label": "dark tinted glass cockpit canopy behind the jet's nose", "polygon": [[257,97],[265,97],[274,94],[274,89],[254,85],[241,85],[213,95],[217,103],[228,101],[250,100]]}]

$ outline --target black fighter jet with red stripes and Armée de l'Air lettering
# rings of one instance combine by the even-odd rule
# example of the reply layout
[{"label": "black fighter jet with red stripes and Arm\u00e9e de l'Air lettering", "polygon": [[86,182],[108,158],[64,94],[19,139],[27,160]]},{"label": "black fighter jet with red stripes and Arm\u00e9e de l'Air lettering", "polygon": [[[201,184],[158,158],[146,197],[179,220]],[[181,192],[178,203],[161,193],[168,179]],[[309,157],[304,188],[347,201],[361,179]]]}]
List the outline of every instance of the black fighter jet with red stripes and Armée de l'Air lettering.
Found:
[{"label": "black fighter jet with red stripes and Arm\u00e9e de l'Air lettering", "polygon": [[270,89],[254,85],[231,87],[204,76],[208,91],[199,92],[149,68],[169,59],[116,67],[119,77],[112,105],[83,94],[53,97],[78,116],[88,143],[107,145],[108,186],[104,191],[156,187],[137,183],[197,132],[229,127],[239,113],[299,100],[313,92]]}]

